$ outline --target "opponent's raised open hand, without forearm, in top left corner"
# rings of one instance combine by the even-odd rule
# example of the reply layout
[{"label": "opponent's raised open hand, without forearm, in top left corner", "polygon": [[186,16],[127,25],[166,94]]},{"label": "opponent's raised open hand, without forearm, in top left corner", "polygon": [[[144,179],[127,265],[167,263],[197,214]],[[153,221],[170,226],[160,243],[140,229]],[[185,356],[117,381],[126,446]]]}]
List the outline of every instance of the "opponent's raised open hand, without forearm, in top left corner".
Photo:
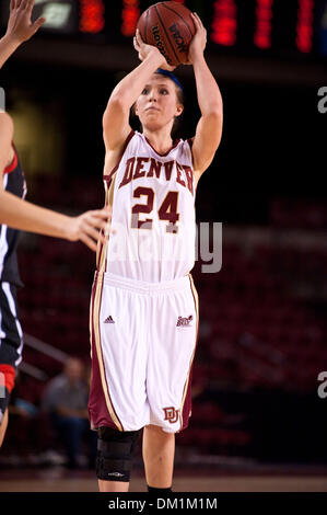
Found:
[{"label": "opponent's raised open hand, without forearm, in top left corner", "polygon": [[35,0],[11,0],[10,16],[5,35],[17,43],[28,41],[45,23],[45,18],[38,18],[34,23],[31,21]]}]

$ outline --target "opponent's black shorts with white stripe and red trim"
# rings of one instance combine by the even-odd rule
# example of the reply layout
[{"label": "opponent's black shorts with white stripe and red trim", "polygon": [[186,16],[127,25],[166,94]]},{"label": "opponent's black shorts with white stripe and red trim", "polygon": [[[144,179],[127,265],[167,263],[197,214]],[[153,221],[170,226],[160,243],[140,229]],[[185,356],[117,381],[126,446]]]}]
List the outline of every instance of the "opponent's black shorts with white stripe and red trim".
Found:
[{"label": "opponent's black shorts with white stripe and red trim", "polygon": [[23,334],[17,319],[16,287],[0,282],[0,423],[22,360]]}]

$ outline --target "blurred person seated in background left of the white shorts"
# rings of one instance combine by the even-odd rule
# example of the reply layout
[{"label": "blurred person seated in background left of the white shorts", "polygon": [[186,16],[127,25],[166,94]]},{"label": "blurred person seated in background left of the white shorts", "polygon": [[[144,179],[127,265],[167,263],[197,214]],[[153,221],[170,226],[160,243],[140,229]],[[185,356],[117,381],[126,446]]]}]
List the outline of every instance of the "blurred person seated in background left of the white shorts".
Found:
[{"label": "blurred person seated in background left of the white shorts", "polygon": [[87,414],[89,387],[84,366],[78,358],[69,358],[62,374],[47,385],[42,408],[50,417],[50,423],[65,445],[68,468],[79,468],[79,451],[83,436],[89,440],[89,467],[96,457],[96,433],[90,430]]}]

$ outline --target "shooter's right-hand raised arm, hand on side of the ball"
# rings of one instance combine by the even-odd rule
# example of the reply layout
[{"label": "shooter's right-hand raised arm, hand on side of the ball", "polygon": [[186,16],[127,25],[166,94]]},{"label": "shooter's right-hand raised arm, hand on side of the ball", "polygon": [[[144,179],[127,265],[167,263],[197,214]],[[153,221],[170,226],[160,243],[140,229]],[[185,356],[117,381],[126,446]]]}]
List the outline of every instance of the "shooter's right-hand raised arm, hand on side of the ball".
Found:
[{"label": "shooter's right-hand raised arm, hand on side of the ball", "polygon": [[198,103],[201,111],[194,138],[192,156],[195,173],[200,176],[210,165],[221,140],[223,103],[220,89],[203,56],[207,31],[197,14],[192,14],[192,19],[197,32],[190,43],[189,61],[195,71]]}]

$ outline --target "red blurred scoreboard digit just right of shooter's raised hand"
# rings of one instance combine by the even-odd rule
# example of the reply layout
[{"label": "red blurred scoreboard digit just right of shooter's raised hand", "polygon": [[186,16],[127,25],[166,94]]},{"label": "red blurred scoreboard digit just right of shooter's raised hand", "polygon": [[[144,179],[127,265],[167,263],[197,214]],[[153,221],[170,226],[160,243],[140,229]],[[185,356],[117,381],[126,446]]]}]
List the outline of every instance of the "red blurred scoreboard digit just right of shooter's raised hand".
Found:
[{"label": "red blurred scoreboard digit just right of shooter's raised hand", "polygon": [[234,0],[215,0],[210,38],[224,46],[236,43],[237,8]]}]

